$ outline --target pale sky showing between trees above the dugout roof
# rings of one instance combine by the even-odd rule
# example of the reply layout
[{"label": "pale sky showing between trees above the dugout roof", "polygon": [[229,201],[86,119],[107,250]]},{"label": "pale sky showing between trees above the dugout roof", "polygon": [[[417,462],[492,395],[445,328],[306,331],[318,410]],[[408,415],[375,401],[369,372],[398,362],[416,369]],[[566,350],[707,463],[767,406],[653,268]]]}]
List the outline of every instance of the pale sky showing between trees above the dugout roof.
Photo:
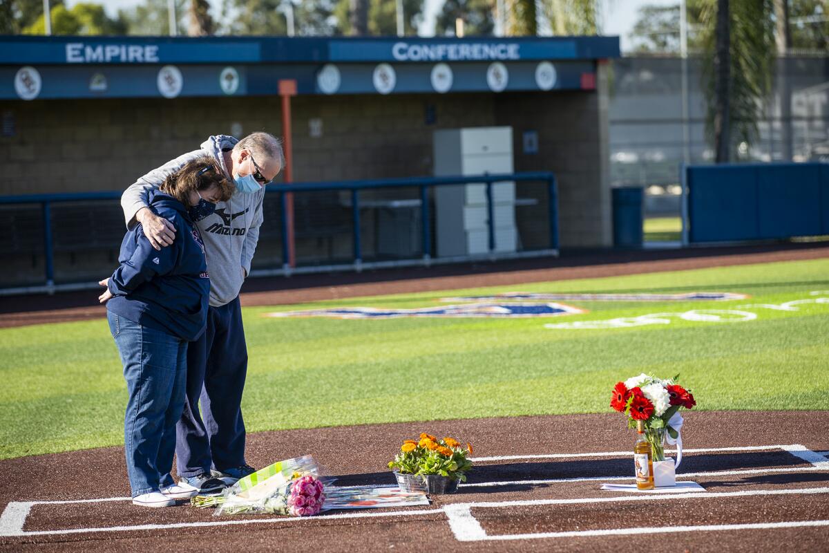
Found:
[{"label": "pale sky showing between trees above the dugout roof", "polygon": [[[608,36],[619,36],[621,39],[622,51],[630,49],[628,34],[636,23],[639,8],[647,4],[654,5],[676,5],[679,0],[597,0],[601,17],[602,34]],[[143,0],[66,0],[68,7],[78,2],[91,2],[102,4],[110,16],[114,16],[119,9],[137,6]],[[214,13],[219,12],[221,0],[210,0]],[[434,35],[434,20],[444,0],[425,0],[424,22],[419,27],[421,36]]]}]

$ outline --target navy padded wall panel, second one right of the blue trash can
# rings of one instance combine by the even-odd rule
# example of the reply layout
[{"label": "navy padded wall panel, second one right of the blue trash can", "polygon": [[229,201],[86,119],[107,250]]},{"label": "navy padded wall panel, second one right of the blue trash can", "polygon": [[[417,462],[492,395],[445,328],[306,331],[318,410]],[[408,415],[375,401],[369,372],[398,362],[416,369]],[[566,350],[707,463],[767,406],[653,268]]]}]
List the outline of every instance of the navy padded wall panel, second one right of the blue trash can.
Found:
[{"label": "navy padded wall panel, second one right of the blue trash can", "polygon": [[759,238],[821,234],[820,167],[771,165],[756,172]]}]

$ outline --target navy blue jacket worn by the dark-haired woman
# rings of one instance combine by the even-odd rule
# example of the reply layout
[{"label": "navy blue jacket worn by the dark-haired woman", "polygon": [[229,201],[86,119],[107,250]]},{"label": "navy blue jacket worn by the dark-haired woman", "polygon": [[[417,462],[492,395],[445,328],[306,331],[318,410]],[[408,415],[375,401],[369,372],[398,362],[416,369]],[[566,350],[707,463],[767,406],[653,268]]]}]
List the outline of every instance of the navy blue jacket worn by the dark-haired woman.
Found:
[{"label": "navy blue jacket worn by the dark-haired woman", "polygon": [[141,225],[121,243],[120,266],[109,277],[114,298],[106,308],[135,323],[192,342],[205,331],[210,278],[205,246],[187,208],[153,191],[150,207],[176,227],[172,245],[153,249]]}]

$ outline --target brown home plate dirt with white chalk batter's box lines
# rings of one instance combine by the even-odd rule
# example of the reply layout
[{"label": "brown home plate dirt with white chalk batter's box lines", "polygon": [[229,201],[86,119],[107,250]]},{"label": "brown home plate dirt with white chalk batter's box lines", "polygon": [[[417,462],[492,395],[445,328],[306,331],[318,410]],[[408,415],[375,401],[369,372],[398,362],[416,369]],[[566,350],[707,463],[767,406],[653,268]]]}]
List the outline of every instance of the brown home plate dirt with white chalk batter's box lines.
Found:
[{"label": "brown home plate dirt with white chalk batter's box lines", "polygon": [[[126,492],[119,481],[124,463],[118,464],[118,455],[123,455],[118,448],[11,459],[0,462],[3,474],[27,465],[37,473],[29,474],[28,488],[22,486],[25,478],[0,481],[0,551],[134,551],[140,544],[149,553],[167,551],[172,543],[177,549],[236,551],[289,551],[296,546],[318,551],[827,551],[829,444],[822,431],[827,424],[827,412],[689,414],[677,482],[701,488],[652,493],[601,489],[603,483],[633,483],[632,453],[626,447],[633,444],[633,431],[619,429],[613,416],[379,424],[251,435],[250,458],[264,463],[269,451],[283,458],[310,453],[341,486],[394,486],[384,463],[400,439],[420,430],[473,442],[476,456],[468,482],[457,493],[431,496],[429,506],[306,518],[214,517],[211,510],[189,506],[133,507],[127,493],[95,493]],[[371,444],[367,453],[356,451],[357,440]],[[89,454],[95,469],[106,472],[98,480],[99,490],[81,479],[61,488],[65,481],[41,472],[50,466],[79,466],[77,457]],[[108,464],[112,466],[102,468]]]}]

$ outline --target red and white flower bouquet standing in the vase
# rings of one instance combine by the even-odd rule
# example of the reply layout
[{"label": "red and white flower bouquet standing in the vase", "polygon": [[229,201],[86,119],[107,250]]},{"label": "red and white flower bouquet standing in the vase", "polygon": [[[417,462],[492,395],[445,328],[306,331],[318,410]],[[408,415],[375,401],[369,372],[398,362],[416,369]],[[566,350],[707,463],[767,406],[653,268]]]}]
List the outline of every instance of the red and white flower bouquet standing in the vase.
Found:
[{"label": "red and white flower bouquet standing in the vase", "polygon": [[[682,426],[681,408],[691,409],[696,405],[690,390],[676,384],[679,375],[668,380],[642,373],[639,376],[618,382],[613,387],[610,406],[619,413],[628,415],[628,428],[636,428],[642,420],[645,433],[653,449],[653,460],[665,459],[664,441],[666,433],[671,444],[679,439]],[[677,461],[676,465],[679,465]]]}]

